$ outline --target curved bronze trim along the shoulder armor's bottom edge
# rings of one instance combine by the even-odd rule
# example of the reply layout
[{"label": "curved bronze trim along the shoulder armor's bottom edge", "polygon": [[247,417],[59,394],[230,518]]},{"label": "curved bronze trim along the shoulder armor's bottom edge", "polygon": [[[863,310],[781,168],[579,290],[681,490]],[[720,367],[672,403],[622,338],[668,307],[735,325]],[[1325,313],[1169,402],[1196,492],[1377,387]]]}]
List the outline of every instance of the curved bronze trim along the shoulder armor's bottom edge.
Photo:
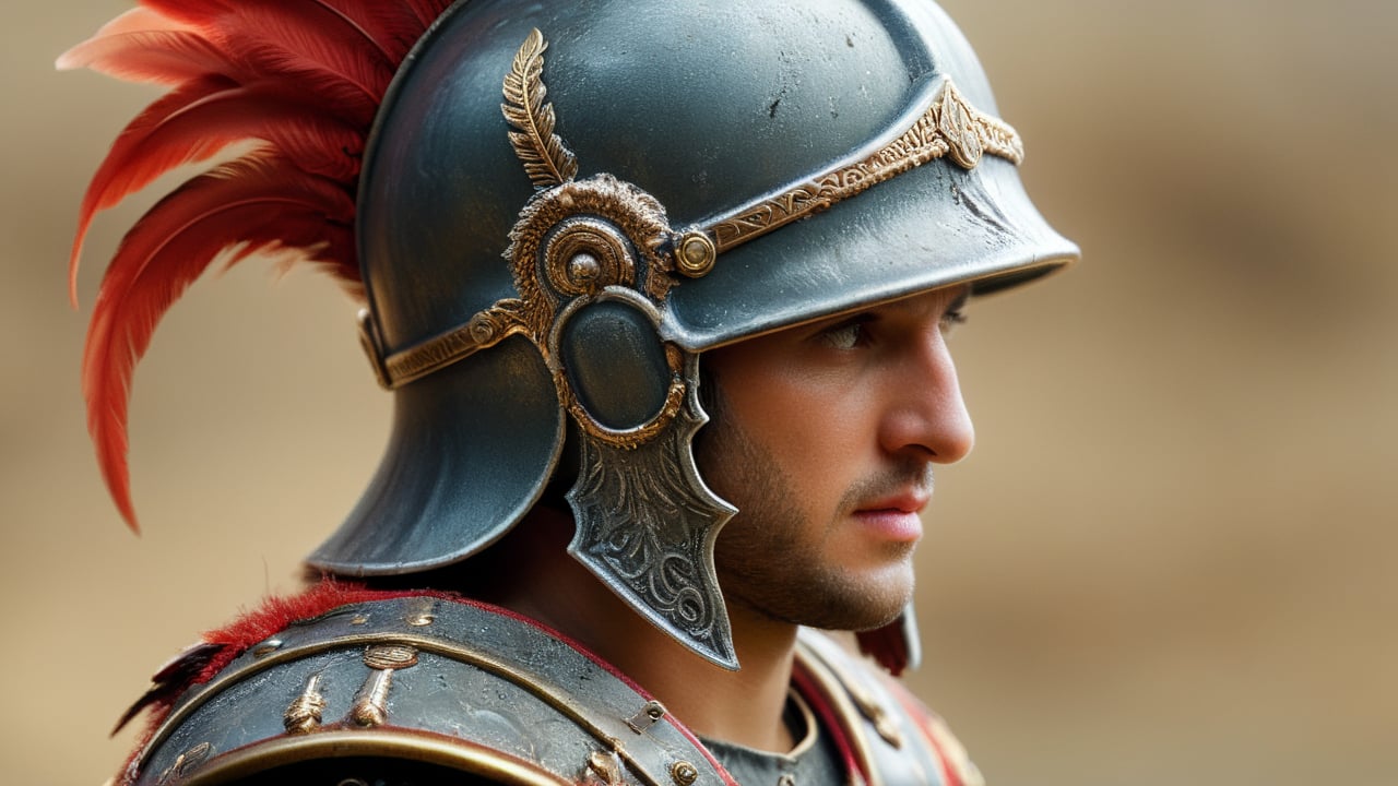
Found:
[{"label": "curved bronze trim along the shoulder armor's bottom edge", "polygon": [[182,786],[217,786],[267,769],[323,757],[384,755],[450,766],[509,786],[572,786],[551,772],[507,754],[456,738],[383,730],[329,730],[281,737],[218,757]]}]

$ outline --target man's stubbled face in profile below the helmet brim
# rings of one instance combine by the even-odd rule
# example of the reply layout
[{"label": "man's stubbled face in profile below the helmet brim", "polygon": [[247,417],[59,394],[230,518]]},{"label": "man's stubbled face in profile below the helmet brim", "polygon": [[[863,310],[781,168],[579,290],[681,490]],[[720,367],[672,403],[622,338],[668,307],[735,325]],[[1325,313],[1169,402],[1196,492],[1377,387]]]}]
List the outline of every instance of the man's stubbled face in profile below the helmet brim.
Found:
[{"label": "man's stubbled face in profile below the helmet brim", "polygon": [[698,460],[738,506],[714,562],[730,607],[819,628],[891,621],[913,592],[932,464],[974,442],[945,343],[966,287],[713,350]]}]

